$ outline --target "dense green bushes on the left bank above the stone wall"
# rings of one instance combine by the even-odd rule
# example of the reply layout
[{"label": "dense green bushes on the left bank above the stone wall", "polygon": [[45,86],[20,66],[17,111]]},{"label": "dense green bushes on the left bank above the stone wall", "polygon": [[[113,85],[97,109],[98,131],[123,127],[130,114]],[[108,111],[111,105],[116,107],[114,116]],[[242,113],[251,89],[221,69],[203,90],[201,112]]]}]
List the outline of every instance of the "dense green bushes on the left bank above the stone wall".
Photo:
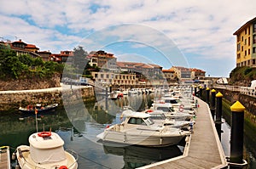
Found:
[{"label": "dense green bushes on the left bank above the stone wall", "polygon": [[51,77],[63,71],[63,65],[30,55],[17,55],[8,46],[0,44],[0,80]]}]

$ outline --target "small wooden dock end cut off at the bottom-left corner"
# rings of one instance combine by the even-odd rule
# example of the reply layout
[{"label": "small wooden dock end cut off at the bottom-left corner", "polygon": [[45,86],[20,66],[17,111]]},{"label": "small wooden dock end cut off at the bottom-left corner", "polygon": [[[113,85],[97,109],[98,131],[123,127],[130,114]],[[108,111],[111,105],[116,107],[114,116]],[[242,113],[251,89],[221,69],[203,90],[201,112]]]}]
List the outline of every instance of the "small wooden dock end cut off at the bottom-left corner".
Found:
[{"label": "small wooden dock end cut off at the bottom-left corner", "polygon": [[8,146],[0,147],[0,168],[10,169],[10,156]]}]

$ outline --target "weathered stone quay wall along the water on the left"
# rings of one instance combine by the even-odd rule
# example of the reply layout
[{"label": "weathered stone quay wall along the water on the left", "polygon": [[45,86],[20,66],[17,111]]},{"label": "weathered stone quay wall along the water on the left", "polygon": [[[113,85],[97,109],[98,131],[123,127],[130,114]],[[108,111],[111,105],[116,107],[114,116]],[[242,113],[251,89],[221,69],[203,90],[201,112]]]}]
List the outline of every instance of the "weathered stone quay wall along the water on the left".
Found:
[{"label": "weathered stone quay wall along the water on the left", "polygon": [[[78,99],[94,98],[94,88],[87,87],[54,87],[38,90],[21,91],[1,91],[0,92],[0,111],[18,110],[20,106],[26,107],[28,104],[60,104],[63,105],[62,96],[68,94],[69,101]],[[66,97],[65,97],[66,98]]]}]

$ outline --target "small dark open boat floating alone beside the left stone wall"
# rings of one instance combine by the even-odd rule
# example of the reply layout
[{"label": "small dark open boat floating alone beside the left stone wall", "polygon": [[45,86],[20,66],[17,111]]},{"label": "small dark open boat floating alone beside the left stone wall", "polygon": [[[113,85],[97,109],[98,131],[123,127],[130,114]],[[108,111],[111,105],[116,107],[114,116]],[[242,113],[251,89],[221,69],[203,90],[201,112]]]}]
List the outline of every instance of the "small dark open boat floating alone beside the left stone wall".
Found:
[{"label": "small dark open boat floating alone beside the left stone wall", "polygon": [[38,114],[46,113],[53,111],[58,107],[58,104],[49,104],[47,106],[42,106],[41,104],[36,104],[35,106],[27,105],[26,108],[20,107],[19,110],[21,113],[26,114],[35,114],[36,111]]}]

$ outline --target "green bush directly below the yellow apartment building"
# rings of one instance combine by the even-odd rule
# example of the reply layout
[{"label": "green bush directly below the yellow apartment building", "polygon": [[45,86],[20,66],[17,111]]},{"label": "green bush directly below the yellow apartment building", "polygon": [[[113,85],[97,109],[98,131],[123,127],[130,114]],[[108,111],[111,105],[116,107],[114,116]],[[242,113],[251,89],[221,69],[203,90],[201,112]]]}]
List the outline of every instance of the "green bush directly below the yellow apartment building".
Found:
[{"label": "green bush directly below the yellow apartment building", "polygon": [[250,86],[250,82],[256,79],[256,68],[236,67],[230,72],[230,84],[239,86]]}]

